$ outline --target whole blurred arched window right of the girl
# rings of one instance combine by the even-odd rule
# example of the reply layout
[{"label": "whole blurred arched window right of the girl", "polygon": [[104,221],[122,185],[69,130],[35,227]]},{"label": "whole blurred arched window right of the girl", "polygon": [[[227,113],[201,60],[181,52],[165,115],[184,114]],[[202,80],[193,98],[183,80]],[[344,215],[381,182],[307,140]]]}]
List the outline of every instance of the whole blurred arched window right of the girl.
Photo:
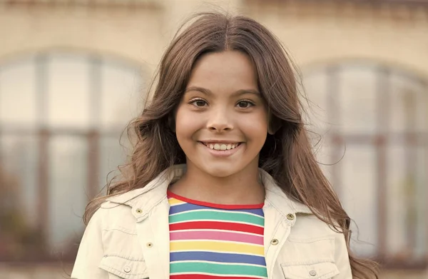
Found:
[{"label": "whole blurred arched window right of the girl", "polygon": [[426,81],[361,62],[303,76],[311,128],[322,136],[318,159],[358,225],[352,248],[394,267],[426,265]]}]

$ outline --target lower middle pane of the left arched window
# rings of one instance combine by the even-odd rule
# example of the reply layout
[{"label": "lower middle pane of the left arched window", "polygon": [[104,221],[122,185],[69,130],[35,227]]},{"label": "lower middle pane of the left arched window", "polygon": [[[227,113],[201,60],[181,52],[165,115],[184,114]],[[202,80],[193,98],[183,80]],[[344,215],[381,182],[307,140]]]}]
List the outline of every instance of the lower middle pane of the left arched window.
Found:
[{"label": "lower middle pane of the left arched window", "polygon": [[55,136],[49,143],[49,240],[62,249],[83,230],[81,217],[87,203],[87,141]]}]

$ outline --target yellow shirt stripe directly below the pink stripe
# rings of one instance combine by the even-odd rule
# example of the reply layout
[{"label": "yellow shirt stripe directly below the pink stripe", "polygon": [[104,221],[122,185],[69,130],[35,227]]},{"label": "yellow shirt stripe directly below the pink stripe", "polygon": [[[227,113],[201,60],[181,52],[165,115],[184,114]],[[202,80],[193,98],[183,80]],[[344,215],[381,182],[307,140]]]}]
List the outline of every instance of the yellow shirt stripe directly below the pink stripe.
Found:
[{"label": "yellow shirt stripe directly below the pink stripe", "polygon": [[205,250],[212,252],[232,252],[253,255],[264,255],[263,245],[251,245],[248,243],[232,243],[220,241],[171,241],[170,251]]}]

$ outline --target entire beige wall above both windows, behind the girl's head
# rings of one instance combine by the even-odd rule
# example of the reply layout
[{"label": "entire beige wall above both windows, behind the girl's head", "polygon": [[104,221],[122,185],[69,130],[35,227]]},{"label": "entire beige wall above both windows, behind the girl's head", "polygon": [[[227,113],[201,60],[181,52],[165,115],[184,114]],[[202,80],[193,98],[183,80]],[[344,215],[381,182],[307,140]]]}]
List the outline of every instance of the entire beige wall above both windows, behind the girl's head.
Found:
[{"label": "entire beige wall above both windows, behind the girl's head", "polygon": [[200,2],[163,0],[131,11],[126,7],[1,6],[0,60],[65,48],[121,56],[153,71],[186,16],[203,9],[224,9],[266,24],[302,68],[342,59],[374,59],[428,77],[428,13],[423,9],[292,1]]}]

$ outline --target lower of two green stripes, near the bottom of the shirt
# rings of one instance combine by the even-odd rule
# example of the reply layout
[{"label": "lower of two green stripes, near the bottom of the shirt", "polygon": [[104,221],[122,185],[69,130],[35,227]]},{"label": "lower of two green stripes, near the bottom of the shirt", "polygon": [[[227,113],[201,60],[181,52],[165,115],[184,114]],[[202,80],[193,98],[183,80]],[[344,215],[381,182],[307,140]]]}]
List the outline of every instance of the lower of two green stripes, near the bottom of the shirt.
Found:
[{"label": "lower of two green stripes, near the bottom of the shirt", "polygon": [[170,273],[212,273],[221,275],[256,275],[267,278],[265,266],[222,265],[219,263],[170,263]]}]

